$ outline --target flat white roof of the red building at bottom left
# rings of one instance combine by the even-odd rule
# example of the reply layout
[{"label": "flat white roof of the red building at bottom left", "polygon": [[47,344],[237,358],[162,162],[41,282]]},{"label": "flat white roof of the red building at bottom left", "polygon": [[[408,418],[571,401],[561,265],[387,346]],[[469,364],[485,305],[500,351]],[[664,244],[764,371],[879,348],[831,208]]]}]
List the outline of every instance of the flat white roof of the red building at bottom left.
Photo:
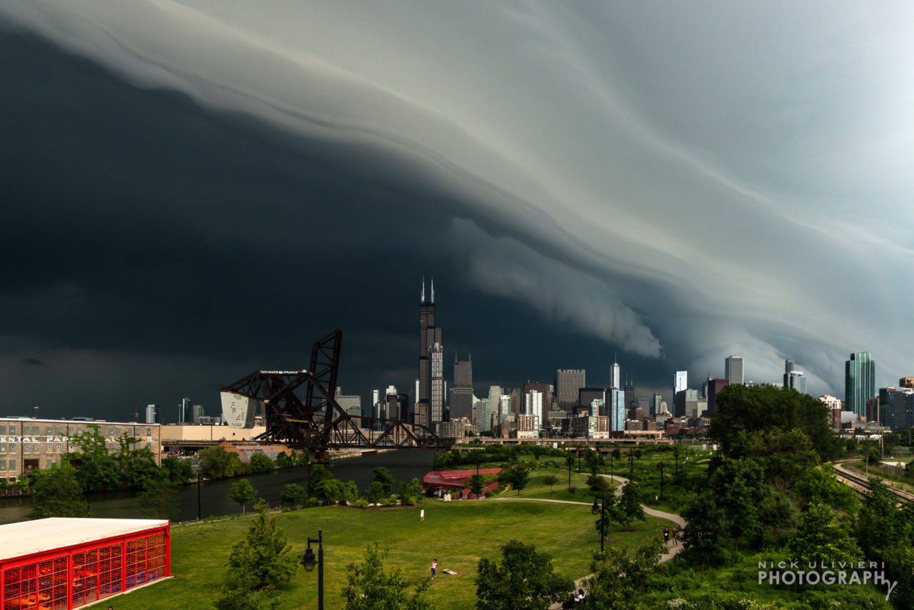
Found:
[{"label": "flat white roof of the red building at bottom left", "polygon": [[74,519],[53,517],[0,525],[0,561],[95,540],[162,528],[162,519]]}]

